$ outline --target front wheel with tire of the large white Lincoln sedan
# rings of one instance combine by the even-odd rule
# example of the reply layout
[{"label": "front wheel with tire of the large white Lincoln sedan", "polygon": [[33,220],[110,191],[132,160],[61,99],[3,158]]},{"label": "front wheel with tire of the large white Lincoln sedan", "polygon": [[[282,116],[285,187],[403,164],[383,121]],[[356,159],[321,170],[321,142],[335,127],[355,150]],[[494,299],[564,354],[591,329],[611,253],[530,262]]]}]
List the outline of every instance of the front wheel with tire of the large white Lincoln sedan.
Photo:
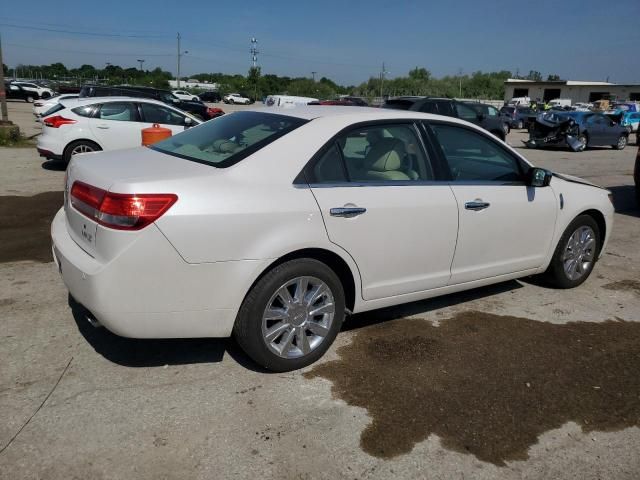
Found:
[{"label": "front wheel with tire of the large white Lincoln sedan", "polygon": [[589,215],[579,215],[567,227],[544,273],[557,288],[574,288],[593,271],[600,254],[600,228]]}]

